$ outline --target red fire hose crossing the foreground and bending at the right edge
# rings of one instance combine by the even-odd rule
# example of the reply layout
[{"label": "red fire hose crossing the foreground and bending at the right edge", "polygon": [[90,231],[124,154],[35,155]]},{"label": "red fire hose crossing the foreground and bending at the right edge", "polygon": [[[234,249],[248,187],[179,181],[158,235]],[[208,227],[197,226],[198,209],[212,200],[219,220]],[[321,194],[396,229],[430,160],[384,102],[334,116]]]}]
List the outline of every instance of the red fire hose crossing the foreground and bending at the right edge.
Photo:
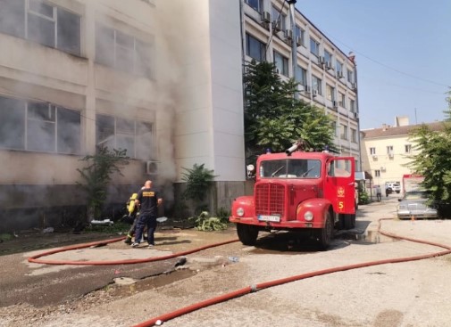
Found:
[{"label": "red fire hose crossing the foreground and bending at the right edge", "polygon": [[314,276],[320,276],[322,274],[332,274],[332,273],[343,272],[343,271],[347,271],[347,270],[351,270],[351,269],[363,268],[363,267],[367,267],[367,266],[378,266],[378,265],[385,265],[385,264],[394,264],[394,263],[399,263],[399,262],[422,260],[422,259],[425,259],[425,258],[435,258],[435,257],[451,254],[451,247],[447,246],[447,245],[444,245],[444,244],[438,244],[438,243],[435,243],[435,242],[423,241],[423,240],[415,240],[415,239],[412,239],[412,238],[399,236],[399,235],[396,235],[396,234],[393,234],[393,233],[381,232],[380,231],[380,224],[381,224],[380,221],[381,220],[388,220],[388,219],[379,219],[378,232],[381,233],[382,235],[385,235],[385,236],[388,236],[388,237],[391,237],[391,238],[396,238],[396,239],[399,239],[399,240],[414,241],[414,242],[418,242],[418,243],[429,244],[429,245],[436,246],[436,247],[442,248],[442,249],[447,249],[447,250],[440,251],[440,252],[434,252],[434,253],[430,253],[430,254],[426,254],[426,255],[422,255],[422,256],[407,257],[407,258],[391,258],[391,259],[385,259],[385,260],[364,262],[364,263],[355,264],[355,265],[338,266],[338,267],[318,270],[318,271],[311,272],[311,273],[298,274],[298,275],[295,275],[295,276],[291,276],[291,277],[287,277],[287,278],[281,278],[281,279],[270,281],[270,282],[261,282],[261,283],[257,283],[257,284],[252,285],[252,286],[247,286],[247,287],[245,287],[243,289],[240,289],[240,290],[234,290],[234,291],[232,291],[230,293],[223,294],[223,295],[215,297],[215,298],[206,299],[205,301],[195,303],[195,304],[190,305],[188,307],[182,307],[182,308],[180,308],[178,310],[172,311],[171,313],[167,313],[167,314],[164,314],[164,315],[159,315],[159,316],[157,316],[155,318],[147,320],[146,322],[138,323],[138,324],[134,325],[133,327],[154,326],[155,324],[160,325],[163,322],[167,322],[167,321],[169,321],[171,319],[179,317],[180,315],[186,315],[186,314],[188,314],[190,312],[193,312],[193,311],[196,311],[198,309],[201,309],[201,308],[204,308],[204,307],[210,307],[210,306],[213,306],[213,305],[215,305],[217,303],[221,303],[221,302],[225,302],[227,300],[230,300],[232,298],[238,298],[238,297],[241,297],[241,296],[246,295],[248,293],[252,293],[252,292],[258,291],[258,290],[263,290],[263,289],[270,288],[272,286],[278,286],[278,285],[282,285],[282,284],[285,284],[285,283],[288,283],[288,282],[295,282],[295,281],[299,281],[299,280],[302,280],[302,279],[311,278],[311,277],[314,277]]}]

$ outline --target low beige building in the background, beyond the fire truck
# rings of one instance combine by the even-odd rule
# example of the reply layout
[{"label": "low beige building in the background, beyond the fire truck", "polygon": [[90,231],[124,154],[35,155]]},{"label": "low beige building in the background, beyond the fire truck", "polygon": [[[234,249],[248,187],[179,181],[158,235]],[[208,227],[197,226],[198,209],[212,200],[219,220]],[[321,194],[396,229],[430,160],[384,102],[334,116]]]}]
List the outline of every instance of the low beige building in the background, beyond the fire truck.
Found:
[{"label": "low beige building in the background, beyond the fire truck", "polygon": [[[432,130],[442,127],[441,122],[426,125]],[[405,165],[411,161],[409,156],[417,154],[409,134],[420,126],[409,125],[406,117],[397,117],[394,126],[362,130],[363,171],[372,176],[372,185],[379,184],[384,190],[386,183],[399,182],[404,192],[403,176],[413,173]]]}]

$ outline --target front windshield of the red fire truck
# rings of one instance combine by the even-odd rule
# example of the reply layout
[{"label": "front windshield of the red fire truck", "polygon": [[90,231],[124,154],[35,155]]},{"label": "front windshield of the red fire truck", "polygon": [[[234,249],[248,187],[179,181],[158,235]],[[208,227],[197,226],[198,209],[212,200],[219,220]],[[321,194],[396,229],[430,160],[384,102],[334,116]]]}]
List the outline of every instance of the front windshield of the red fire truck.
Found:
[{"label": "front windshield of the red fire truck", "polygon": [[321,161],[316,159],[264,160],[260,163],[263,178],[320,178]]}]

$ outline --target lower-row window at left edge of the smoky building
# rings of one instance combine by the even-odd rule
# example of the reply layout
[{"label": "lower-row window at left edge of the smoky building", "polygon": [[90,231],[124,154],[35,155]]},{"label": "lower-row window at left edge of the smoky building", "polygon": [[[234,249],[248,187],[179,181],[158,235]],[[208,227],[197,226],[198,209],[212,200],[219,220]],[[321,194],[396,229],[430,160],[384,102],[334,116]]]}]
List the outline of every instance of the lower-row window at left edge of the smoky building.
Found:
[{"label": "lower-row window at left edge of the smoky building", "polygon": [[79,111],[0,97],[0,148],[79,154],[80,140]]}]

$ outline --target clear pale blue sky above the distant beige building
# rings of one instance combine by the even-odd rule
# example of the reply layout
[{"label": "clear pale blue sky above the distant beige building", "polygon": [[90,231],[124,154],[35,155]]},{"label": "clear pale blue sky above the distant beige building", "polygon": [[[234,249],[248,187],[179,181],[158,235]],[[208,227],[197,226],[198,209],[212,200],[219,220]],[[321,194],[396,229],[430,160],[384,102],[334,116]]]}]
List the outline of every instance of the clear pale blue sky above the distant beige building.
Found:
[{"label": "clear pale blue sky above the distant beige building", "polygon": [[297,0],[343,53],[355,53],[360,128],[445,119],[451,86],[450,0]]}]

